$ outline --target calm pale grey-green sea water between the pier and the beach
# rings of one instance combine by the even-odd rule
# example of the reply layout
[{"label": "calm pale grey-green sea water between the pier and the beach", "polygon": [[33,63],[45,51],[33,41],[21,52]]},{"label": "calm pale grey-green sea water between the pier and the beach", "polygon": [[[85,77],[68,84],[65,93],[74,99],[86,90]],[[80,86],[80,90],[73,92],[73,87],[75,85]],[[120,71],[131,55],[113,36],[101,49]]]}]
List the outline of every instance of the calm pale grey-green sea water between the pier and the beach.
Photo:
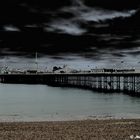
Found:
[{"label": "calm pale grey-green sea water between the pier and the beach", "polygon": [[140,99],[45,85],[0,84],[0,121],[140,118]]}]

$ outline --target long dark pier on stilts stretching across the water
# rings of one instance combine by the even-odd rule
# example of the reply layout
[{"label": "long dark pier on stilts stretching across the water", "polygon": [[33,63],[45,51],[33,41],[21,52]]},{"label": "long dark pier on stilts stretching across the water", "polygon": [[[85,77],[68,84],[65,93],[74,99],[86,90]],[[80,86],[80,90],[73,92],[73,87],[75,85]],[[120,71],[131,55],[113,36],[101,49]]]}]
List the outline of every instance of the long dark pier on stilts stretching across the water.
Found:
[{"label": "long dark pier on stilts stretching across the water", "polygon": [[46,84],[60,87],[78,87],[100,92],[124,92],[140,96],[140,72],[102,69],[81,72],[14,72],[1,73],[1,83]]}]

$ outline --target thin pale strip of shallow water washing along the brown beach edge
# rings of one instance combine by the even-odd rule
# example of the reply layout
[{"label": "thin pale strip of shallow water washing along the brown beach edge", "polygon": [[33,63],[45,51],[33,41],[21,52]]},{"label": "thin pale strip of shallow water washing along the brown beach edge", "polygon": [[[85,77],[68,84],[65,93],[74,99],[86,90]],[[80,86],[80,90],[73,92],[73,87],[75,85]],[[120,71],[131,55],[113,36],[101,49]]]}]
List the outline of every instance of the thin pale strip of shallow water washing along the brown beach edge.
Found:
[{"label": "thin pale strip of shallow water washing along the brown beach edge", "polygon": [[25,122],[25,123],[32,123],[32,122],[71,122],[71,121],[105,121],[105,120],[140,120],[140,116],[52,116],[52,117],[20,117],[18,115],[11,115],[11,116],[3,116],[0,117],[0,123],[12,123],[12,122]]}]

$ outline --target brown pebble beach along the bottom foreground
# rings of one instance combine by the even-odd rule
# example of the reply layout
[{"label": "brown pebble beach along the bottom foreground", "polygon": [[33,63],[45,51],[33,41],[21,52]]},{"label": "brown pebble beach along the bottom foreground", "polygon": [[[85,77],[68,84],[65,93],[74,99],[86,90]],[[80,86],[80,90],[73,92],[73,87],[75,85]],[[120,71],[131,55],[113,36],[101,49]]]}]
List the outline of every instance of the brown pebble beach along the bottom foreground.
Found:
[{"label": "brown pebble beach along the bottom foreground", "polygon": [[130,140],[137,136],[138,119],[0,123],[0,140]]}]

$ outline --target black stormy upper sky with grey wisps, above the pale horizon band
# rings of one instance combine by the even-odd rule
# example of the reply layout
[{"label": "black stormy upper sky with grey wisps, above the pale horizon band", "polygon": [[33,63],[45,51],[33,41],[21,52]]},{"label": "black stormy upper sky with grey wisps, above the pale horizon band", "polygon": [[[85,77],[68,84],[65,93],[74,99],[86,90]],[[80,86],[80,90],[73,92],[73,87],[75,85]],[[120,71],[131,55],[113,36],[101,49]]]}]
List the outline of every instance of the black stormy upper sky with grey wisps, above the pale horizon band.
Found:
[{"label": "black stormy upper sky with grey wisps, above the pale horizon band", "polygon": [[126,56],[130,52],[120,54],[120,50],[140,45],[139,3],[139,0],[5,0],[0,2],[0,54],[38,51],[54,58],[61,53],[98,59],[102,54]]}]

